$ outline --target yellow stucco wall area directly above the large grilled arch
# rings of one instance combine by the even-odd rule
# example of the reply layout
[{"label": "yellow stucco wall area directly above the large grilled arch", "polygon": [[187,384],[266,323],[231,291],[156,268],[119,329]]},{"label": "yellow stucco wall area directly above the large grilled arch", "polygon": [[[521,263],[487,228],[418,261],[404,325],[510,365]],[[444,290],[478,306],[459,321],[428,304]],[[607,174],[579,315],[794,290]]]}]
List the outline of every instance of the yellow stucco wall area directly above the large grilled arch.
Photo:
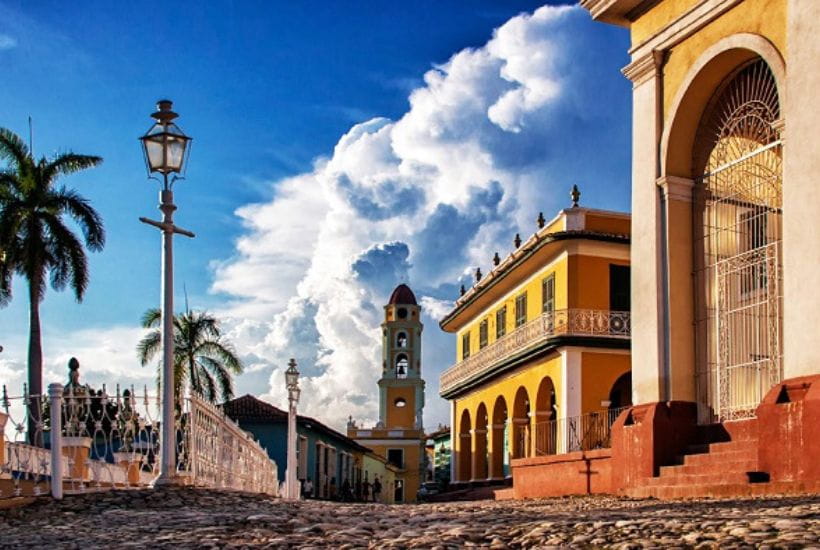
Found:
[{"label": "yellow stucco wall area directly above the large grilled arch", "polygon": [[[686,1],[696,3],[694,0]],[[674,2],[675,0],[667,0],[658,4],[656,9]],[[678,2],[685,3],[684,0]],[[633,24],[633,37],[639,24],[643,25],[645,19],[652,18],[653,11],[650,10]],[[659,28],[658,25],[660,20],[652,23],[651,28]],[[722,38],[744,32],[768,39],[785,57],[786,0],[745,0],[672,48],[663,70],[665,117],[669,116],[669,109],[686,74],[701,54]]]}]

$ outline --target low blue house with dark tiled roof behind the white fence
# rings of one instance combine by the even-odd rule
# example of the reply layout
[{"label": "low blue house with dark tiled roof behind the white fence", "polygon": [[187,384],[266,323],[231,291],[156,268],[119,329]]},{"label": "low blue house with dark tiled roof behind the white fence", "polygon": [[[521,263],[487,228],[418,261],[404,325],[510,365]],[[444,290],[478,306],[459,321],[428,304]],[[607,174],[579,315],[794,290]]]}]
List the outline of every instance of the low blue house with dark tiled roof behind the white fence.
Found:
[{"label": "low blue house with dark tiled roof behind the white fence", "polygon": [[[288,413],[252,395],[226,402],[223,410],[267,449],[279,465],[279,481],[283,482],[288,462]],[[309,416],[297,415],[296,432],[296,476],[302,482],[311,480],[314,498],[340,498],[345,480],[355,486],[361,476],[362,456],[370,449]]]}]

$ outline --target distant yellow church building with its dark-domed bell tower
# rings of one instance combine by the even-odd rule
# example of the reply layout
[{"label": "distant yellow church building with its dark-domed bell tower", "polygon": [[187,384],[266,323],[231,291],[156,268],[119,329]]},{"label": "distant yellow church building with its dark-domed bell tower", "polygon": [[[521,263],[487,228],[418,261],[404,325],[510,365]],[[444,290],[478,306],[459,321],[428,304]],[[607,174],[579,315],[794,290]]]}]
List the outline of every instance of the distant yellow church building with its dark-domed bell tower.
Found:
[{"label": "distant yellow church building with its dark-domed bell tower", "polygon": [[423,328],[421,306],[413,291],[404,284],[397,286],[384,306],[379,422],[373,428],[360,429],[351,420],[347,427],[348,437],[395,467],[391,470],[393,483],[382,489],[391,493],[387,502],[392,503],[415,502],[424,481]]}]

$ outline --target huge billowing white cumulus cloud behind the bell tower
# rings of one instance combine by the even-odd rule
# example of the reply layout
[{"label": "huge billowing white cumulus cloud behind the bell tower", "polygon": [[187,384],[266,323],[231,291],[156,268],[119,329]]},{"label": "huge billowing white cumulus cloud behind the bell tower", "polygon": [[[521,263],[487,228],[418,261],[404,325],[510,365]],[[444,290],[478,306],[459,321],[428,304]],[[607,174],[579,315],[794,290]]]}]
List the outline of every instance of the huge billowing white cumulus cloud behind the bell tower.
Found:
[{"label": "huge billowing white cumulus cloud behind the bell tower", "polygon": [[568,135],[611,145],[593,120],[591,83],[620,78],[622,60],[590,38],[600,28],[578,7],[512,18],[428,71],[398,120],[353,126],[311,172],[238,210],[246,232],[214,264],[212,290],[231,297],[221,313],[252,365],[240,392],[283,406],[293,356],[302,411],[337,428],[348,415],[375,422],[382,305],[406,282],[425,310],[425,422],[449,422],[438,375],[454,344],[437,323],[459,284],[509,251],[521,227],[534,231],[539,210],[566,203],[568,166],[588,163]]}]

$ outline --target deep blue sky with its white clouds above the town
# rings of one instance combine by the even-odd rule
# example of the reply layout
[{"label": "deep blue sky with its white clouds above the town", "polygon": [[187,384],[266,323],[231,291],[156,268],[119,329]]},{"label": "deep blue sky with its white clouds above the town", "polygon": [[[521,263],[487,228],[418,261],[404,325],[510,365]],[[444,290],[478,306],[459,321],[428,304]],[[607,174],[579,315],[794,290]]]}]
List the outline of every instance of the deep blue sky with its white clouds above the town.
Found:
[{"label": "deep blue sky with its white clouds above the town", "polygon": [[[0,125],[26,135],[30,115],[38,155],[105,159],[65,181],[108,243],[82,304],[47,293],[46,380],[71,355],[95,381],[151,379],[133,345],[159,302],[159,236],[137,221],[157,215],[157,187],[137,137],[168,97],[194,137],[177,221],[197,237],[177,241],[177,303],[184,283],[192,307],[226,319],[251,371],[239,392],[278,403],[295,355],[309,411],[372,420],[396,283],[440,313],[573,183],[587,205],[628,209],[627,36],[578,8],[515,18],[540,4],[0,0]],[[0,310],[10,384],[27,319],[14,289]],[[446,420],[437,378],[454,352],[425,325],[430,424]]]}]

